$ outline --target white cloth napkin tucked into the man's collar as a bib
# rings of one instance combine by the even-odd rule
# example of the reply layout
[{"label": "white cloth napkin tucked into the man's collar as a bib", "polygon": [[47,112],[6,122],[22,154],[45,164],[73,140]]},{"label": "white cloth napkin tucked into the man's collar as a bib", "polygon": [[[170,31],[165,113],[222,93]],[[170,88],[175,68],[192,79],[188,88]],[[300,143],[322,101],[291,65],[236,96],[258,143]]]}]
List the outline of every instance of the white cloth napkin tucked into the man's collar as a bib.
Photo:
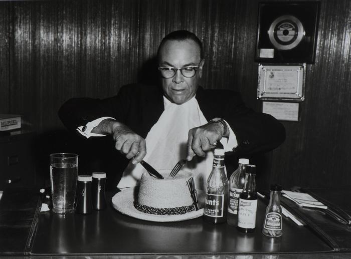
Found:
[{"label": "white cloth napkin tucked into the man's collar as a bib", "polygon": [[[169,172],[180,160],[187,157],[187,143],[189,130],[206,124],[204,114],[200,110],[195,96],[184,104],[171,103],[163,97],[164,111],[158,121],[147,134],[146,155],[144,161],[156,170],[167,169]],[[205,157],[195,156],[182,170],[194,174],[198,189],[205,189],[206,180],[212,170],[213,151],[208,151]],[[135,186],[145,169],[138,163],[131,161],[123,172],[117,188],[123,189]]]}]

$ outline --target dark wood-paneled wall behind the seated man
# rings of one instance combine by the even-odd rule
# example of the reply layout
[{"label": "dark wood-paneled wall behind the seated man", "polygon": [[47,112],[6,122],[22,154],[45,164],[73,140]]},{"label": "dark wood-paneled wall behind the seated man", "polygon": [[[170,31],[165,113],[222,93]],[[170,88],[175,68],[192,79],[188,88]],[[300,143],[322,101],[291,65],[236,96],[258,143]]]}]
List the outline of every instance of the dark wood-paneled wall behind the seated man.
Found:
[{"label": "dark wood-paneled wall behind the seated man", "polygon": [[[258,0],[0,1],[0,113],[22,114],[39,133],[62,130],[60,105],[149,82],[163,36],[193,31],[204,42],[202,85],[256,100]],[[266,182],[351,184],[351,1],[321,0],[316,62],[307,65],[300,122],[268,155]]]}]

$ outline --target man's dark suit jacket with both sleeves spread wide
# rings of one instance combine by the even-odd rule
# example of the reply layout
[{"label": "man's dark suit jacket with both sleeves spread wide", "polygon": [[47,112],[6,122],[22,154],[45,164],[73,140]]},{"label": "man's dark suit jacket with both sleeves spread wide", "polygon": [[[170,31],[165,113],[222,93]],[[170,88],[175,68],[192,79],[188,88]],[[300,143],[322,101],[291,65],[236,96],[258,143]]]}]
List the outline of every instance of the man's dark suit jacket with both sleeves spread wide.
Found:
[{"label": "man's dark suit jacket with both sleeves spread wide", "polygon": [[[162,96],[162,89],[157,86],[126,85],[111,98],[70,99],[59,110],[59,116],[72,131],[99,117],[110,116],[145,138],[164,110]],[[221,117],[229,123],[238,141],[234,150],[237,154],[266,152],[285,139],[283,125],[268,114],[247,108],[239,93],[199,87],[196,99],[207,120]]]}]

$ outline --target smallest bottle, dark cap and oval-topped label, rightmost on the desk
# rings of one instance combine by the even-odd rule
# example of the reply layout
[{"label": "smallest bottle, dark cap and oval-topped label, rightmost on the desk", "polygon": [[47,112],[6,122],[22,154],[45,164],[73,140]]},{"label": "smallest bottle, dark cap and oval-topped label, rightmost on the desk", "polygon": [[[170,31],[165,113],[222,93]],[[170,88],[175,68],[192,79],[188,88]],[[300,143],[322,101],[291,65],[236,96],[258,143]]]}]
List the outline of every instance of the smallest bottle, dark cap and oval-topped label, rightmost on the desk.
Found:
[{"label": "smallest bottle, dark cap and oval-topped label, rightmost on the desk", "polygon": [[270,237],[278,237],[283,234],[280,206],[281,190],[281,185],[272,184],[270,186],[270,198],[262,228],[262,233]]}]

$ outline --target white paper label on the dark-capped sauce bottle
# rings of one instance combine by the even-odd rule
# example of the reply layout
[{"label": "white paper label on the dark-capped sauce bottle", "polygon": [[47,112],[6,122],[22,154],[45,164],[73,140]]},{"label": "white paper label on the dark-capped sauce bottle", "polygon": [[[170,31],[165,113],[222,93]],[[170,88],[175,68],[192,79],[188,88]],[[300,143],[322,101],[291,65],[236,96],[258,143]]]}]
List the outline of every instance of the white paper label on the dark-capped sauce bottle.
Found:
[{"label": "white paper label on the dark-capped sauce bottle", "polygon": [[239,198],[238,226],[242,228],[256,227],[257,199],[247,200]]}]

